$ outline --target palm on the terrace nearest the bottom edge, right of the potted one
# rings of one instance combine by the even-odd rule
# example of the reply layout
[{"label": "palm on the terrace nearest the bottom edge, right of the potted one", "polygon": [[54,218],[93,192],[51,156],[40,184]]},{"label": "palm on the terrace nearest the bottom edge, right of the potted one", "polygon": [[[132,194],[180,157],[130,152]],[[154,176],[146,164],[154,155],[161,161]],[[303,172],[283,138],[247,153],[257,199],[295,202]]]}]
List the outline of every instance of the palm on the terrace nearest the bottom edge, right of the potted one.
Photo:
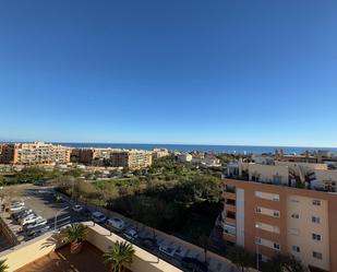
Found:
[{"label": "palm on the terrace nearest the bottom edge, right of the potted one", "polygon": [[132,263],[134,249],[128,241],[116,241],[109,247],[108,252],[103,255],[106,263],[111,265],[112,272],[122,272],[123,269]]}]

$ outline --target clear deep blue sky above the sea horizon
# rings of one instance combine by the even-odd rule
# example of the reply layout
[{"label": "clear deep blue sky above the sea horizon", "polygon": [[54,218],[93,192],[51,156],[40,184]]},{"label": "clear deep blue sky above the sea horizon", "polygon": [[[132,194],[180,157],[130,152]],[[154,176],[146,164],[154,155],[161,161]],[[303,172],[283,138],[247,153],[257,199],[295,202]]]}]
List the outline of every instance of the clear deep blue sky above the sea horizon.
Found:
[{"label": "clear deep blue sky above the sea horizon", "polygon": [[0,139],[337,146],[337,1],[0,4]]}]

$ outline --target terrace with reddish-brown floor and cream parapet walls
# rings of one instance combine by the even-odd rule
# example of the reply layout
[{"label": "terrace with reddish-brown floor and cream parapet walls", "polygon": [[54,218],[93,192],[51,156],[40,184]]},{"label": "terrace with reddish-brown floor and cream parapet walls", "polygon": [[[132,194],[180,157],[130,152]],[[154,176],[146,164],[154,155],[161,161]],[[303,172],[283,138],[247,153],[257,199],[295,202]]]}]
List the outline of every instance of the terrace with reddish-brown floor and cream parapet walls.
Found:
[{"label": "terrace with reddish-brown floor and cream parapet walls", "polygon": [[[110,267],[104,263],[103,252],[113,243],[124,241],[120,236],[93,222],[88,225],[88,234],[83,250],[77,255],[70,253],[69,245],[59,245],[55,234],[47,233],[15,249],[0,253],[5,259],[9,272],[108,272]],[[133,245],[133,256],[130,270],[125,272],[181,272],[180,269],[159,259],[151,252]]]}]

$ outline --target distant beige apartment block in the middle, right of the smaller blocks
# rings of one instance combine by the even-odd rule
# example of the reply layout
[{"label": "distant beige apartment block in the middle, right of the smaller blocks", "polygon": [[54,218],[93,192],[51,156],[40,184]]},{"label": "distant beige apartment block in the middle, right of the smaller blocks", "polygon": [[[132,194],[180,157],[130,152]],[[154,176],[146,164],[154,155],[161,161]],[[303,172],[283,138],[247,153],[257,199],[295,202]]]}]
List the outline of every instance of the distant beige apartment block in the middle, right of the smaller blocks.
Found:
[{"label": "distant beige apartment block in the middle, right of the smaller blocks", "polygon": [[137,150],[112,152],[110,162],[113,167],[145,168],[152,165],[152,152]]}]

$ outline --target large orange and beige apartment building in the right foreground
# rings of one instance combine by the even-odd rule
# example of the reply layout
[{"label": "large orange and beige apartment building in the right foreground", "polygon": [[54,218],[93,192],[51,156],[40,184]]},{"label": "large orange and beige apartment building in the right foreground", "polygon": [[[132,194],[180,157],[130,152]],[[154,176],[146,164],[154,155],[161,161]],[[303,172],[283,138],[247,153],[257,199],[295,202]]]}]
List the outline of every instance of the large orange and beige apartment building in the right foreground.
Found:
[{"label": "large orange and beige apartment building in the right foreground", "polygon": [[288,166],[253,166],[246,180],[224,181],[224,239],[261,261],[291,253],[311,271],[337,271],[336,192],[291,187]]}]

